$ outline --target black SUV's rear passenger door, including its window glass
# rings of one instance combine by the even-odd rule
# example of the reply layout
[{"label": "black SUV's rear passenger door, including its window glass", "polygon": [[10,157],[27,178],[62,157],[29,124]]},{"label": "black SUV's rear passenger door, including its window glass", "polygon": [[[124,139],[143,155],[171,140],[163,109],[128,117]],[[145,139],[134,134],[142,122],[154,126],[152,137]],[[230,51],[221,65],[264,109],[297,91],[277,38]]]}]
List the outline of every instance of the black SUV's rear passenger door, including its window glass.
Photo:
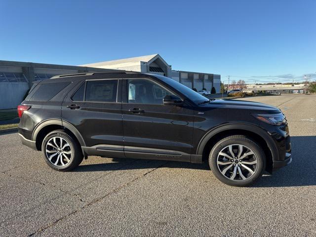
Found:
[{"label": "black SUV's rear passenger door, including its window glass", "polygon": [[124,156],[120,79],[82,81],[64,99],[62,120],[79,131],[88,155]]}]

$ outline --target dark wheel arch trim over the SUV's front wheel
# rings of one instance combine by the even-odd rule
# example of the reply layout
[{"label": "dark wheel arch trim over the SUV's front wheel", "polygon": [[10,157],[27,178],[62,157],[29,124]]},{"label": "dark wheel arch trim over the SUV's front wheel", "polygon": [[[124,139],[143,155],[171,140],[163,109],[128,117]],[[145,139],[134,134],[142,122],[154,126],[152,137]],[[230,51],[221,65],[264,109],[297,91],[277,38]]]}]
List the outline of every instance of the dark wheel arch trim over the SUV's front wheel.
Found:
[{"label": "dark wheel arch trim over the SUV's front wheel", "polygon": [[225,124],[208,131],[197,146],[196,154],[202,156],[203,160],[208,159],[208,154],[212,147],[221,139],[231,135],[247,135],[254,139],[264,150],[267,166],[266,170],[272,173],[273,160],[278,156],[278,151],[273,138],[268,132],[260,127],[244,123]]}]

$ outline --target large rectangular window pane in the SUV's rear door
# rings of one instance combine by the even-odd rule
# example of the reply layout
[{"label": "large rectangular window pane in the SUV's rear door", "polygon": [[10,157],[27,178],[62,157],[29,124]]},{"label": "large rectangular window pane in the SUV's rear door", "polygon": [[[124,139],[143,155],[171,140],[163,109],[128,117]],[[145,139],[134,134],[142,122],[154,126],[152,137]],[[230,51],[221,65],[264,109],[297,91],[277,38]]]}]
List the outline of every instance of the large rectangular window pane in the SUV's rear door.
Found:
[{"label": "large rectangular window pane in the SUV's rear door", "polygon": [[118,80],[87,81],[85,101],[116,102]]}]

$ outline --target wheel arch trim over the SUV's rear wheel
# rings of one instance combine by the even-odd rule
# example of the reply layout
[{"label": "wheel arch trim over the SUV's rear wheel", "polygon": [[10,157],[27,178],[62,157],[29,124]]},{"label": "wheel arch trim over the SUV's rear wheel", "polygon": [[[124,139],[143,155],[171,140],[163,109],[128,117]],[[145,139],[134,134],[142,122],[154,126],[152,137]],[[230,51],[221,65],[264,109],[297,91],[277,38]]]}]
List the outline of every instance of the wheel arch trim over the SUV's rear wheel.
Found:
[{"label": "wheel arch trim over the SUV's rear wheel", "polygon": [[41,151],[41,143],[44,137],[51,131],[63,129],[69,134],[73,135],[79,142],[81,147],[85,146],[85,142],[77,130],[77,128],[69,122],[62,121],[61,119],[47,119],[36,126],[32,134],[32,141],[36,142],[38,151]]}]

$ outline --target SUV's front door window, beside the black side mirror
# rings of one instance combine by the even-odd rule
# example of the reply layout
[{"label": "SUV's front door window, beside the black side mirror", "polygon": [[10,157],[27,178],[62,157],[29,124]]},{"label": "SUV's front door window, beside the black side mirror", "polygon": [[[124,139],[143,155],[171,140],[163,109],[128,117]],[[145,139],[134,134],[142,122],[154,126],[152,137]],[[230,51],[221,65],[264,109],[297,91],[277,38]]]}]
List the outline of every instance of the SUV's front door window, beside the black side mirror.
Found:
[{"label": "SUV's front door window, beside the black side mirror", "polygon": [[128,103],[163,104],[163,98],[172,93],[148,79],[129,79]]}]

